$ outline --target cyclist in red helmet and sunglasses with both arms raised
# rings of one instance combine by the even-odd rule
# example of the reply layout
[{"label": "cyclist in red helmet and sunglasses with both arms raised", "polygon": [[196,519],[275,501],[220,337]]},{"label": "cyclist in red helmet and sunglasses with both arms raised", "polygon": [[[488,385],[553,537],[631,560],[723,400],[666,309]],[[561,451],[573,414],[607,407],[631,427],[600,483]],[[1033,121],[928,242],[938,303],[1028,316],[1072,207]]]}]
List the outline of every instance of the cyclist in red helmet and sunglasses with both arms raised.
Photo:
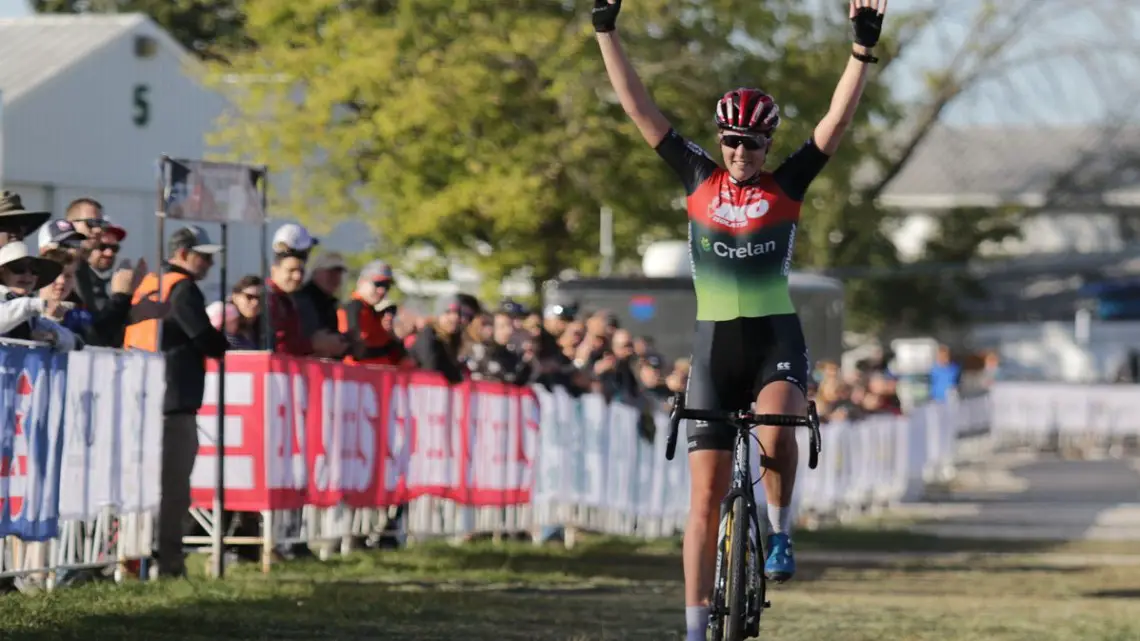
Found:
[{"label": "cyclist in red helmet and sunglasses with both arms raised", "polygon": [[[809,364],[788,286],[796,229],[808,185],[855,116],[873,48],[882,31],[886,0],[852,0],[855,43],[828,113],[811,138],[767,171],[780,108],[767,91],[733,89],[712,109],[724,168],[683,138],[653,104],[618,36],[621,0],[594,0],[593,23],[613,90],[645,141],[678,175],[686,193],[690,255],[697,292],[687,405],[701,409],[763,413],[805,411]],[[798,452],[795,432],[759,428],[775,470],[764,474],[768,520],[765,574],[782,583],[795,574],[791,496]],[[705,639],[711,590],[718,502],[730,480],[733,431],[695,422],[687,427],[691,492],[685,528],[687,636]]]}]

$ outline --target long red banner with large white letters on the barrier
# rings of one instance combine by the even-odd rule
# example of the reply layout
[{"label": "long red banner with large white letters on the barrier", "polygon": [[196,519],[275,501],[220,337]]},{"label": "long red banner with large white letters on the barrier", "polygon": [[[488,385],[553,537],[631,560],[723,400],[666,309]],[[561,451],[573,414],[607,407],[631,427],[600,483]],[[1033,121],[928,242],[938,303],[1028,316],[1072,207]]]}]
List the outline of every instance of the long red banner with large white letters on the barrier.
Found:
[{"label": "long red banner with large white letters on the barrier", "polygon": [[[211,371],[210,378],[217,374]],[[194,504],[213,501],[217,398],[206,382]],[[262,352],[226,359],[226,508],[373,508],[418,496],[530,501],[538,399],[466,382]]]}]

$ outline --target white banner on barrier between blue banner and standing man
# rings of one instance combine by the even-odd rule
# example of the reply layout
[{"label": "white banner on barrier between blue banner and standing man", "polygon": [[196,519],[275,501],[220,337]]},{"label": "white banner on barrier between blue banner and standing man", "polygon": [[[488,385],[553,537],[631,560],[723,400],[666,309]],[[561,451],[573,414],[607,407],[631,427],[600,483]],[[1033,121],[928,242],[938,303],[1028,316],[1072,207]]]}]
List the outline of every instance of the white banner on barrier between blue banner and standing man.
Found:
[{"label": "white banner on barrier between blue banner and standing man", "polygon": [[157,510],[165,360],[87,348],[68,356],[59,517],[90,520],[106,506]]}]

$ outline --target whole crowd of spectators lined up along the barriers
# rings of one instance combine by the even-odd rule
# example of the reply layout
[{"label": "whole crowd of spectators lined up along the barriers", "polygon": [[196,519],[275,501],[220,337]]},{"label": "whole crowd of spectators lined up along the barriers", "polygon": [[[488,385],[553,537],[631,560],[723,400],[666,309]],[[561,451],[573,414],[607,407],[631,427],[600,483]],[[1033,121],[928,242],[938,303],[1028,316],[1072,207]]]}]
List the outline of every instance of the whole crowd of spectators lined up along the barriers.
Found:
[{"label": "whole crowd of spectators lined up along the barriers", "polygon": [[[621,327],[605,309],[528,309],[511,299],[484,303],[461,293],[437,301],[433,314],[414,311],[397,302],[388,263],[373,260],[350,270],[344,257],[319,248],[320,241],[300,225],[276,232],[268,278],[243,275],[223,300],[206,305],[198,287],[177,284],[204,278],[225,250],[202,229],[176,230],[162,285],[145,260],[120,259],[128,230],[98,202],[76,200],[63,218],[49,219],[48,212],[25,210],[17,194],[0,195],[0,335],[57,349],[125,346],[166,355],[164,443],[179,445],[163,453],[160,554],[165,546],[162,565],[172,574],[182,571],[170,561],[169,549],[181,536],[171,534],[178,530],[171,524],[189,505],[203,363],[227,349],[430,370],[453,383],[562,387],[573,396],[595,392],[638,407],[646,419],[668,409],[671,395],[687,382],[687,359],[668,362],[652,336]],[[36,251],[25,241],[32,234]],[[956,384],[960,374],[945,360],[947,354],[939,355],[938,375],[931,372],[931,388],[938,388],[931,392]],[[824,421],[902,413],[896,379],[883,363],[844,373],[823,362],[813,379],[811,393]],[[651,420],[643,423],[652,429]],[[178,455],[168,461],[168,449]],[[255,518],[250,526],[258,526]]]}]

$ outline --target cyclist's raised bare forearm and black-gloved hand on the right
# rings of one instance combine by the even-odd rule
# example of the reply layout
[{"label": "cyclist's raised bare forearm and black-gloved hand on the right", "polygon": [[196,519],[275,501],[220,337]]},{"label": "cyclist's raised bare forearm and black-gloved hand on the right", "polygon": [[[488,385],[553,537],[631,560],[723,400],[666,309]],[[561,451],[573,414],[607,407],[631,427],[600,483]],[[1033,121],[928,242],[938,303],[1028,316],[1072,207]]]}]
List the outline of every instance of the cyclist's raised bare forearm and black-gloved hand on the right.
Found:
[{"label": "cyclist's raised bare forearm and black-gloved hand on the right", "polygon": [[878,62],[871,55],[879,42],[882,31],[882,17],[887,13],[887,0],[850,0],[850,18],[855,27],[855,48],[847,60],[847,68],[839,79],[836,92],[831,96],[831,107],[815,127],[815,144],[824,153],[833,155],[839,148],[847,127],[855,119],[860,98],[870,66]]}]

